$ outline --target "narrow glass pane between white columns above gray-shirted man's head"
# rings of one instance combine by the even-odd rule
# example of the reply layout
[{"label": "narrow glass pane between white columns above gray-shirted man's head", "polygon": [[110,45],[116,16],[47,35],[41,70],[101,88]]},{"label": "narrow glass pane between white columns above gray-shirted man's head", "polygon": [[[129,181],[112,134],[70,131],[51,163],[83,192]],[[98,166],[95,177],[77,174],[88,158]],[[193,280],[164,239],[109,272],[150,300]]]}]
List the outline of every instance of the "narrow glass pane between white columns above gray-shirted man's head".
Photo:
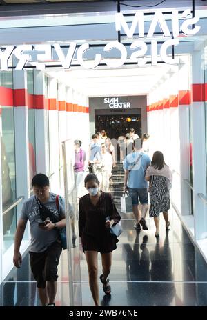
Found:
[{"label": "narrow glass pane between white columns above gray-shirted man's head", "polygon": [[34,71],[27,71],[27,88],[28,88],[28,135],[29,135],[29,159],[30,159],[30,183],[32,177],[36,174],[36,146],[35,146],[35,118],[34,108],[30,108],[30,103],[34,99]]}]

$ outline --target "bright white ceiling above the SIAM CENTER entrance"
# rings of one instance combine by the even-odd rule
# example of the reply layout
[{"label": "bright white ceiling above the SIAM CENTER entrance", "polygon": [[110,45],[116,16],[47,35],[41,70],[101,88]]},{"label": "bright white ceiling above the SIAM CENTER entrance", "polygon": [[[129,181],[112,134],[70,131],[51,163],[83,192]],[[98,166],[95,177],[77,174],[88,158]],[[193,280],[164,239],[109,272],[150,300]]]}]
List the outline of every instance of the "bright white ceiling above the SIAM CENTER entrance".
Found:
[{"label": "bright white ceiling above the SIAM CENTER entrance", "polygon": [[124,66],[120,69],[68,70],[47,72],[51,77],[88,97],[103,95],[147,94],[173,67],[167,64],[144,68]]}]

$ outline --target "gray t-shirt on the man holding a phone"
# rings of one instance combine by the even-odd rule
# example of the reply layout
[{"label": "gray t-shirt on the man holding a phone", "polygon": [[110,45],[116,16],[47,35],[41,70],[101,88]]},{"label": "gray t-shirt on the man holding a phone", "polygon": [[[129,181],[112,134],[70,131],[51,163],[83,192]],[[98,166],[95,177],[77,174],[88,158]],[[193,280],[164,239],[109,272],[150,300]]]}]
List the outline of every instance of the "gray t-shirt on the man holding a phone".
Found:
[{"label": "gray t-shirt on the man holding a phone", "polygon": [[[57,209],[55,202],[56,194],[50,192],[50,198],[48,202],[43,203],[55,216],[59,217],[59,220],[65,218],[65,201],[59,196],[59,210]],[[34,196],[30,197],[23,203],[21,210],[21,219],[30,221],[30,233],[31,233],[31,252],[43,252],[50,244],[55,242],[59,237],[59,230],[52,229],[50,231],[44,231],[39,228],[39,206]]]}]

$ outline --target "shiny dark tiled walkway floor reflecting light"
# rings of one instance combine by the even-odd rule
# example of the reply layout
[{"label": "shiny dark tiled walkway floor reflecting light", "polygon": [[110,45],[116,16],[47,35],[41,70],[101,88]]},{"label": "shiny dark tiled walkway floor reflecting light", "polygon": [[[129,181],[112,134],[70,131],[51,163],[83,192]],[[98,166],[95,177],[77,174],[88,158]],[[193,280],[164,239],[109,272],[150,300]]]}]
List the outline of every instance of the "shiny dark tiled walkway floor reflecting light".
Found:
[{"label": "shiny dark tiled walkway floor reflecting light", "polygon": [[[113,170],[110,192],[120,210],[123,170]],[[176,214],[170,213],[170,230],[161,219],[159,239],[154,222],[147,218],[148,231],[133,228],[132,214],[121,214],[124,232],[113,252],[110,283],[112,294],[104,294],[99,281],[101,306],[206,306],[207,265]],[[86,259],[80,248],[72,248],[74,267],[80,259],[81,278],[73,283],[75,306],[93,306],[88,286]],[[67,251],[59,264],[56,306],[69,305]],[[99,274],[101,263],[99,260]],[[79,277],[79,270],[75,277]],[[25,254],[19,270],[12,270],[1,284],[1,306],[40,306],[36,283]]]}]

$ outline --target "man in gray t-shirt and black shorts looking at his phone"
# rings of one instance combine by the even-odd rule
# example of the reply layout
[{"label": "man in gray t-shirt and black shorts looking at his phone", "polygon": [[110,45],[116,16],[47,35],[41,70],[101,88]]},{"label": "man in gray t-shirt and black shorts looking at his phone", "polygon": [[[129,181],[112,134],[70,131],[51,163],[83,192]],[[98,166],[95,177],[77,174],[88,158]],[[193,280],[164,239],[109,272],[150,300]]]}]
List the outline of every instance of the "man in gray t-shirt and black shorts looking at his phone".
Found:
[{"label": "man in gray t-shirt and black shorts looking at his phone", "polygon": [[[43,306],[55,306],[57,292],[57,266],[61,254],[59,229],[66,226],[65,203],[62,197],[50,192],[49,179],[45,174],[37,174],[32,179],[34,196],[23,203],[21,217],[14,237],[14,266],[20,268],[21,254],[19,248],[26,228],[30,221],[30,266],[34,279],[37,281],[39,298]],[[54,217],[44,221],[41,219],[39,206],[45,207],[48,216]]]}]

